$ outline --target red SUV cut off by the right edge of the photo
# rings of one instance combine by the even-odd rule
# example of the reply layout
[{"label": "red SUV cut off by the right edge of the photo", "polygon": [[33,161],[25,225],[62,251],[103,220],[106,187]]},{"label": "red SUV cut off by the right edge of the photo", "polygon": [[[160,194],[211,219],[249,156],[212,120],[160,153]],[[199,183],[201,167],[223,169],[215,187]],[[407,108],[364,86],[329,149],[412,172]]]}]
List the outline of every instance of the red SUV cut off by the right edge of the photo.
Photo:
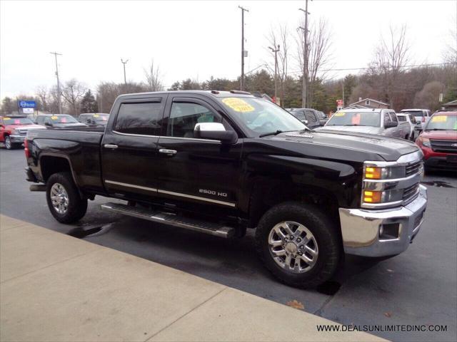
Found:
[{"label": "red SUV cut off by the right edge of the photo", "polygon": [[457,111],[434,113],[416,144],[426,169],[457,170]]}]

